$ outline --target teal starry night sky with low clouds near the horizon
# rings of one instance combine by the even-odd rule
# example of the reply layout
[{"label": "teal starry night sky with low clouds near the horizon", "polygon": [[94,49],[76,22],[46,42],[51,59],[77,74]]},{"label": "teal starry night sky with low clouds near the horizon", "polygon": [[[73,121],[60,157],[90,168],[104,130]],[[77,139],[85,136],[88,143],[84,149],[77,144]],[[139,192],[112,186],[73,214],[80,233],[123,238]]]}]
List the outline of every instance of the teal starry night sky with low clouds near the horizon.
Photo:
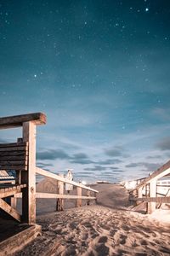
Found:
[{"label": "teal starry night sky with low clouds near the horizon", "polygon": [[88,183],[155,171],[170,157],[169,81],[168,0],[0,0],[0,116],[47,114],[45,170]]}]

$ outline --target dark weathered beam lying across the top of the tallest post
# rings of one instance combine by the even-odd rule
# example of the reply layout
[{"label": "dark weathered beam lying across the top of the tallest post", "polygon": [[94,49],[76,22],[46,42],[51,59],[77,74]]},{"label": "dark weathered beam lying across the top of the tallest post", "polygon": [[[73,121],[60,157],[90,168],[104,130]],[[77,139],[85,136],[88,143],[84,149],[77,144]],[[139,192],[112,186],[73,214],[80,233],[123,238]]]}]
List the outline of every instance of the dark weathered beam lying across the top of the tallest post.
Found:
[{"label": "dark weathered beam lying across the top of the tallest post", "polygon": [[34,125],[46,124],[46,115],[44,113],[26,113],[0,118],[0,129],[20,127],[25,122],[33,122]]}]

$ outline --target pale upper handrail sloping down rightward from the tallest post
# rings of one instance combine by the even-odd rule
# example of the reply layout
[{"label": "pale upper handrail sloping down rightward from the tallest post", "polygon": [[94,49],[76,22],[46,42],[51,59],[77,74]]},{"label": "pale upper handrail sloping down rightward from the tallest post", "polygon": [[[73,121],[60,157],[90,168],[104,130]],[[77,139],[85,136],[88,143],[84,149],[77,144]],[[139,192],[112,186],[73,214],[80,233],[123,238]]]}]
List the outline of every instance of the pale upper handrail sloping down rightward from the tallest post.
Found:
[{"label": "pale upper handrail sloping down rightward from the tallest post", "polygon": [[84,185],[82,185],[81,183],[76,183],[76,182],[74,182],[74,181],[70,181],[70,180],[68,180],[68,179],[65,179],[65,177],[60,177],[59,175],[54,174],[53,172],[45,171],[45,170],[43,170],[43,169],[41,169],[41,168],[39,168],[39,167],[36,167],[36,172],[37,172],[38,174],[42,175],[42,176],[52,177],[52,178],[54,178],[54,179],[56,179],[56,180],[59,180],[59,181],[62,181],[62,182],[64,182],[64,183],[69,183],[69,184],[71,184],[71,185],[73,185],[73,186],[80,187],[80,188],[82,188],[82,189],[88,189],[88,190],[90,190],[90,191],[94,191],[95,193],[99,193],[98,190],[91,189],[90,187],[84,186]]}]

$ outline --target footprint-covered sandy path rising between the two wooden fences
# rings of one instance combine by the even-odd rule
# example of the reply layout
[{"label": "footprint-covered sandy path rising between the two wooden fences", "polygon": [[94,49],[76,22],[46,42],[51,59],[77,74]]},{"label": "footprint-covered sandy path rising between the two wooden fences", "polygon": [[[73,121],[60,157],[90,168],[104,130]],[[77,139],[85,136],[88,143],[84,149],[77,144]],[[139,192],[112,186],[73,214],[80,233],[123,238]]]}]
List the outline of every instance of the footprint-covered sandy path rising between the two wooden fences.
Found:
[{"label": "footprint-covered sandy path rising between the two wooden fences", "polygon": [[15,255],[170,254],[170,223],[127,208],[127,191],[119,185],[94,187],[100,192],[98,205],[37,215],[42,236]]}]

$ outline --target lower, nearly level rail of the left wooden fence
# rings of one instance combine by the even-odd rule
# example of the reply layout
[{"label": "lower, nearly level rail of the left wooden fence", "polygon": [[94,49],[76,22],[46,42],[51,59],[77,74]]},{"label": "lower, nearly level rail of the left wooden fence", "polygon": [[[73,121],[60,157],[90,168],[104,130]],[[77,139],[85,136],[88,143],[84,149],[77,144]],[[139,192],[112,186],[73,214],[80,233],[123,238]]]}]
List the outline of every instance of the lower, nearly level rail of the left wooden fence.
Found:
[{"label": "lower, nearly level rail of the left wooden fence", "polygon": [[[20,197],[21,195],[15,195],[15,197]],[[78,196],[78,195],[60,195],[60,194],[52,194],[52,193],[36,193],[36,198],[62,198],[62,199],[88,199],[88,200],[95,200],[96,197],[94,196]]]}]

